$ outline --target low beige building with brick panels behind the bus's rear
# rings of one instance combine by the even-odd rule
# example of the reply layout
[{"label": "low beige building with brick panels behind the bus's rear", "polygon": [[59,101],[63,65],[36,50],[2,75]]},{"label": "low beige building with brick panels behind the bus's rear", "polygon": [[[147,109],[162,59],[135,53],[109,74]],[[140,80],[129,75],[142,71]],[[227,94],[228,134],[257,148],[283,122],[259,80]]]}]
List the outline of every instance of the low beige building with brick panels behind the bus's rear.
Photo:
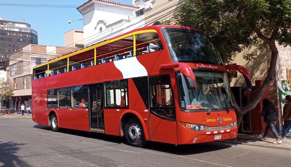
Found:
[{"label": "low beige building with brick panels behind the bus's rear", "polygon": [[29,44],[9,55],[7,78],[12,80],[14,95],[8,107],[31,105],[32,69],[34,66],[76,51],[76,48]]}]

